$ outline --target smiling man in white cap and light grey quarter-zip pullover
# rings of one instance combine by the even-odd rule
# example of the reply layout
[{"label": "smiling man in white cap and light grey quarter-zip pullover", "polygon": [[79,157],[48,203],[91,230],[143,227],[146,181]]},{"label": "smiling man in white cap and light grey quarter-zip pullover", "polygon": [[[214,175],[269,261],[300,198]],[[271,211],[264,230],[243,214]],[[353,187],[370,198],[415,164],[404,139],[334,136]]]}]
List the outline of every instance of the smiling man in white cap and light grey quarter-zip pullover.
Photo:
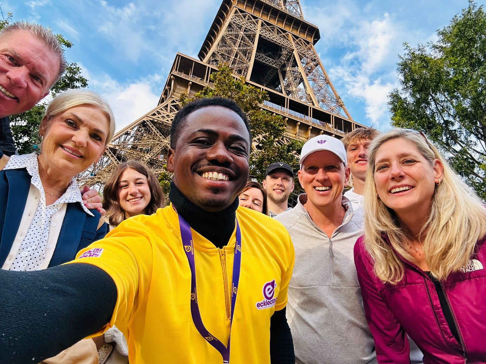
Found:
[{"label": "smiling man in white cap and light grey quarter-zip pullover", "polygon": [[287,319],[296,364],[377,363],[364,317],[353,247],[363,234],[343,196],[349,180],[346,150],[339,139],[316,136],[304,144],[297,205],[275,217],[295,248]]}]

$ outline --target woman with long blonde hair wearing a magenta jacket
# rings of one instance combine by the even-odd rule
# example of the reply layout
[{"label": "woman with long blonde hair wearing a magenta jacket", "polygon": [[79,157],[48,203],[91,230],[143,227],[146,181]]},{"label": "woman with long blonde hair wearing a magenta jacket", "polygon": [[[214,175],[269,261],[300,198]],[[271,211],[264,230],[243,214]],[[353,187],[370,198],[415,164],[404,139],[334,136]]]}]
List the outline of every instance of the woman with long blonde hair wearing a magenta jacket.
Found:
[{"label": "woman with long blonde hair wearing a magenta jacket", "polygon": [[354,248],[379,363],[486,363],[486,209],[425,136],[394,129],[368,153]]}]

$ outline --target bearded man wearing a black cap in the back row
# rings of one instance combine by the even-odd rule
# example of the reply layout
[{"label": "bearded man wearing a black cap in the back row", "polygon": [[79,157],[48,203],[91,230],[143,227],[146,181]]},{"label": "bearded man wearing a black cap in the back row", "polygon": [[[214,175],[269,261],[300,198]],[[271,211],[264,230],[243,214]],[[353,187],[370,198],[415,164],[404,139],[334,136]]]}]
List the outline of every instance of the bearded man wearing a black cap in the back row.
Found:
[{"label": "bearded man wearing a black cap in the back row", "polygon": [[289,196],[294,191],[294,171],[287,163],[272,163],[265,173],[263,188],[267,191],[268,215],[275,217],[289,207]]}]

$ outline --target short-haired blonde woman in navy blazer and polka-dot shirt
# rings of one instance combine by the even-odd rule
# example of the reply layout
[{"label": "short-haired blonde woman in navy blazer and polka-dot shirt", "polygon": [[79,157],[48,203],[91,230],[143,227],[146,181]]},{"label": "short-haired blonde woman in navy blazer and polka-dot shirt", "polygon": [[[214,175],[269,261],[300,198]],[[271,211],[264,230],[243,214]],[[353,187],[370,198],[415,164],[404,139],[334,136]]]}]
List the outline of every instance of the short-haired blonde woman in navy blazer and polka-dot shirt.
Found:
[{"label": "short-haired blonde woman in navy blazer and polka-dot shirt", "polygon": [[2,269],[60,265],[104,237],[106,224],[98,211],[85,207],[74,176],[99,161],[114,132],[104,99],[89,90],[68,90],[46,110],[39,155],[7,160],[0,151]]}]

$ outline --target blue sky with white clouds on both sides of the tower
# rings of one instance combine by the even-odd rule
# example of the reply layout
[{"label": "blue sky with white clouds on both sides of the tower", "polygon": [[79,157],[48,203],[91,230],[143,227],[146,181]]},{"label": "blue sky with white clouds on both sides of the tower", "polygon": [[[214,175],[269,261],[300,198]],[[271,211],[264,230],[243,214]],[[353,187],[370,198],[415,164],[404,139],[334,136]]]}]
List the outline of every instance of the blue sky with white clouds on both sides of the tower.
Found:
[{"label": "blue sky with white clouds on both sides of the tower", "polygon": [[[197,58],[222,0],[4,0],[3,14],[50,26],[74,43],[66,53],[110,102],[117,130],[156,107],[175,53]],[[478,2],[483,4],[483,2]],[[323,66],[354,120],[389,127],[387,94],[398,86],[403,42],[416,46],[467,0],[301,0],[320,29]]]}]

